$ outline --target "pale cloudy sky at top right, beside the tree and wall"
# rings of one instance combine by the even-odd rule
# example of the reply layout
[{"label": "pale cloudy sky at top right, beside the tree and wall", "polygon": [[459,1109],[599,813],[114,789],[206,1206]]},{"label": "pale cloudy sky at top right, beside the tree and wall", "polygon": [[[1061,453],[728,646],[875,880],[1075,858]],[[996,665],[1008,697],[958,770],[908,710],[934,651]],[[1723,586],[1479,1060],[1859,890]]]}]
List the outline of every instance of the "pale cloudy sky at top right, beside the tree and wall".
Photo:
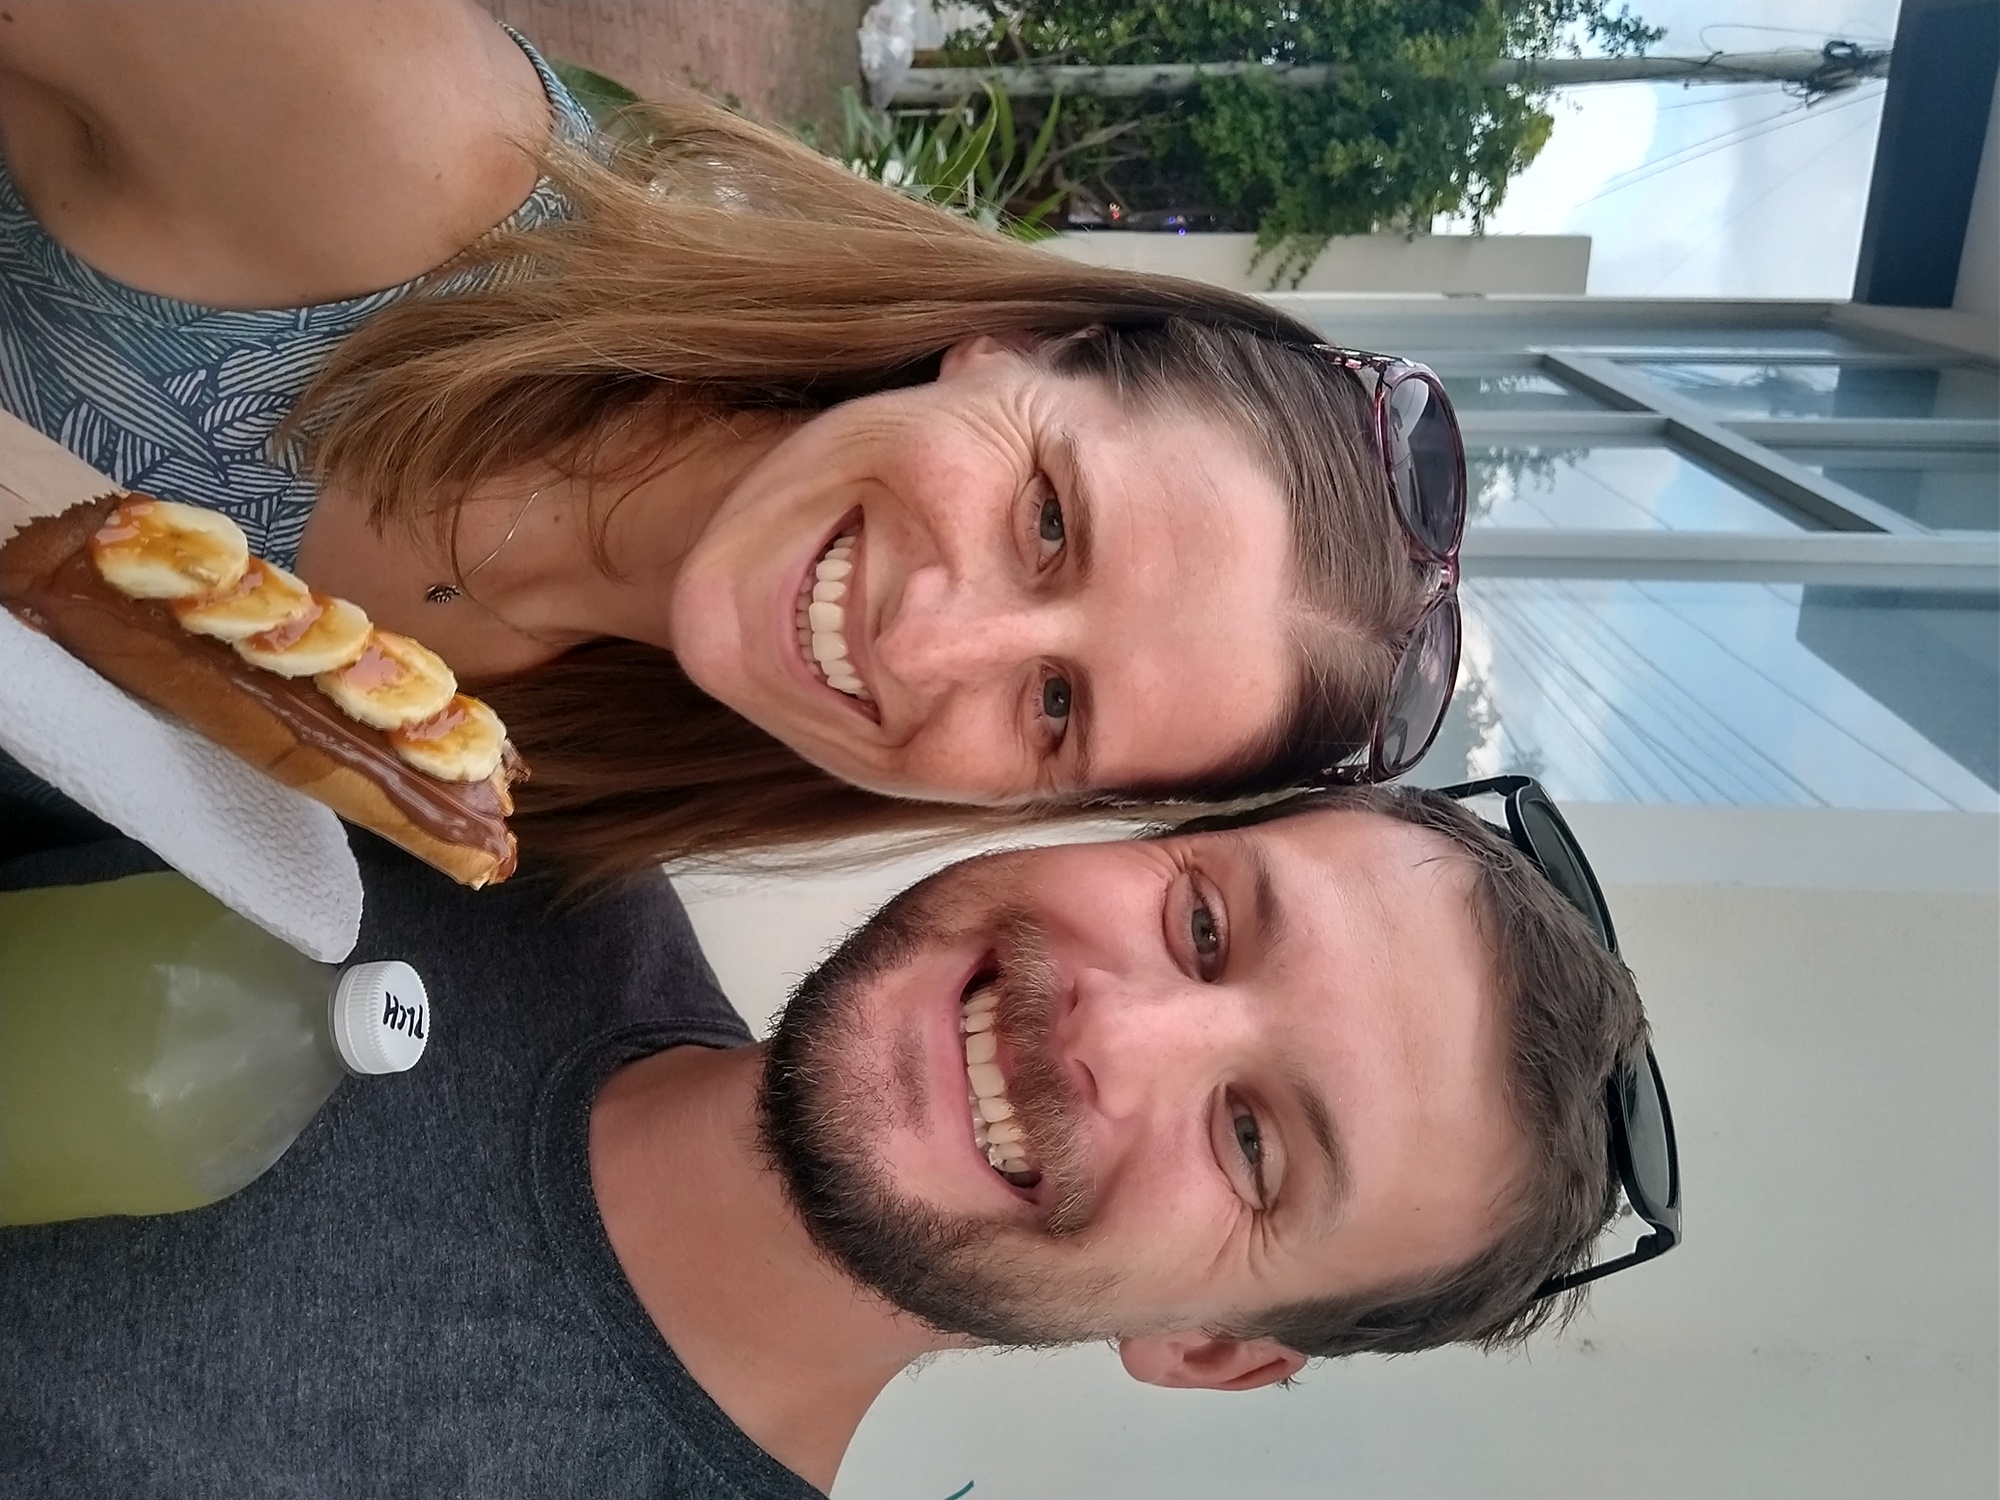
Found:
[{"label": "pale cloudy sky at top right, beside the tree and wall", "polygon": [[[1896,0],[1634,0],[1656,54],[1888,46]],[[1844,298],[1886,84],[1806,108],[1776,84],[1598,84],[1556,94],[1496,234],[1588,234],[1606,296]],[[1446,228],[1440,224],[1438,228]]]}]

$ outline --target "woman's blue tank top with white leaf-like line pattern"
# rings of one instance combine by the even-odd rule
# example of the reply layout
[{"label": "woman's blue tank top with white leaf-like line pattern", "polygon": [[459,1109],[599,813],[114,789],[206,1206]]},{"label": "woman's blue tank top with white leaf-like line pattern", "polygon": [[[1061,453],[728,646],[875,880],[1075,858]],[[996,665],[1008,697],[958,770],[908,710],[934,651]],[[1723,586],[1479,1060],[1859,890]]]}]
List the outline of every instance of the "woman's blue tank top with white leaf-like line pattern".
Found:
[{"label": "woman's blue tank top with white leaf-like line pattern", "polygon": [[[542,76],[556,132],[588,140],[584,108],[508,34]],[[562,214],[544,180],[506,228]],[[258,312],[152,296],[48,238],[0,160],[0,406],[128,488],[226,512],[280,566],[314,488],[272,434],[332,348],[414,286]]]}]

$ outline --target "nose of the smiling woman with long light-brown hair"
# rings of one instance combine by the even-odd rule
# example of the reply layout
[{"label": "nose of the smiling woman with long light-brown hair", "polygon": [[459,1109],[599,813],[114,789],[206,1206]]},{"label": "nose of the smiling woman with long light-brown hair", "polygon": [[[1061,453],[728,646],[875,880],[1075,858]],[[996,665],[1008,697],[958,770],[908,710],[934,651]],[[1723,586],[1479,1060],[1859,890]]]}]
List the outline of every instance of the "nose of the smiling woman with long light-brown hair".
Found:
[{"label": "nose of the smiling woman with long light-brown hair", "polygon": [[1058,634],[1060,620],[1046,600],[926,566],[904,584],[874,640],[874,660],[906,690],[936,696],[1060,654]]}]

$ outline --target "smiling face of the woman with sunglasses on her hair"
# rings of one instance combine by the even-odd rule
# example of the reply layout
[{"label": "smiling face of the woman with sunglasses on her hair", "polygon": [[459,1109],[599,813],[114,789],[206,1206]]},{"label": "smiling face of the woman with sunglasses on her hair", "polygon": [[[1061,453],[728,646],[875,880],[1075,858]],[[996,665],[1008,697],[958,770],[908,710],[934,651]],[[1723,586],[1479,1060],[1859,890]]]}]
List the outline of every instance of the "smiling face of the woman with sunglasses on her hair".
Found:
[{"label": "smiling face of the woman with sunglasses on her hair", "polygon": [[878,792],[1186,786],[1292,700],[1290,536],[1224,420],[974,338],[742,478],[680,570],[672,644],[704,692]]}]

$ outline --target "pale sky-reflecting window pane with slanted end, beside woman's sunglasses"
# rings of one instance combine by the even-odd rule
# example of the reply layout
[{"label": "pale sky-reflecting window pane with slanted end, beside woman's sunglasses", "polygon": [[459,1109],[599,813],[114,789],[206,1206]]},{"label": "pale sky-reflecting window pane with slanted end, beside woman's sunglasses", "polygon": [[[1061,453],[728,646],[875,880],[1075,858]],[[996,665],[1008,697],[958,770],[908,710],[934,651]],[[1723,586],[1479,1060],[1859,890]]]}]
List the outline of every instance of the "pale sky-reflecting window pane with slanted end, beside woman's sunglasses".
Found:
[{"label": "pale sky-reflecting window pane with slanted end, beside woman's sunglasses", "polygon": [[1662,444],[1466,450],[1474,526],[1652,532],[1806,530],[1750,490]]}]

